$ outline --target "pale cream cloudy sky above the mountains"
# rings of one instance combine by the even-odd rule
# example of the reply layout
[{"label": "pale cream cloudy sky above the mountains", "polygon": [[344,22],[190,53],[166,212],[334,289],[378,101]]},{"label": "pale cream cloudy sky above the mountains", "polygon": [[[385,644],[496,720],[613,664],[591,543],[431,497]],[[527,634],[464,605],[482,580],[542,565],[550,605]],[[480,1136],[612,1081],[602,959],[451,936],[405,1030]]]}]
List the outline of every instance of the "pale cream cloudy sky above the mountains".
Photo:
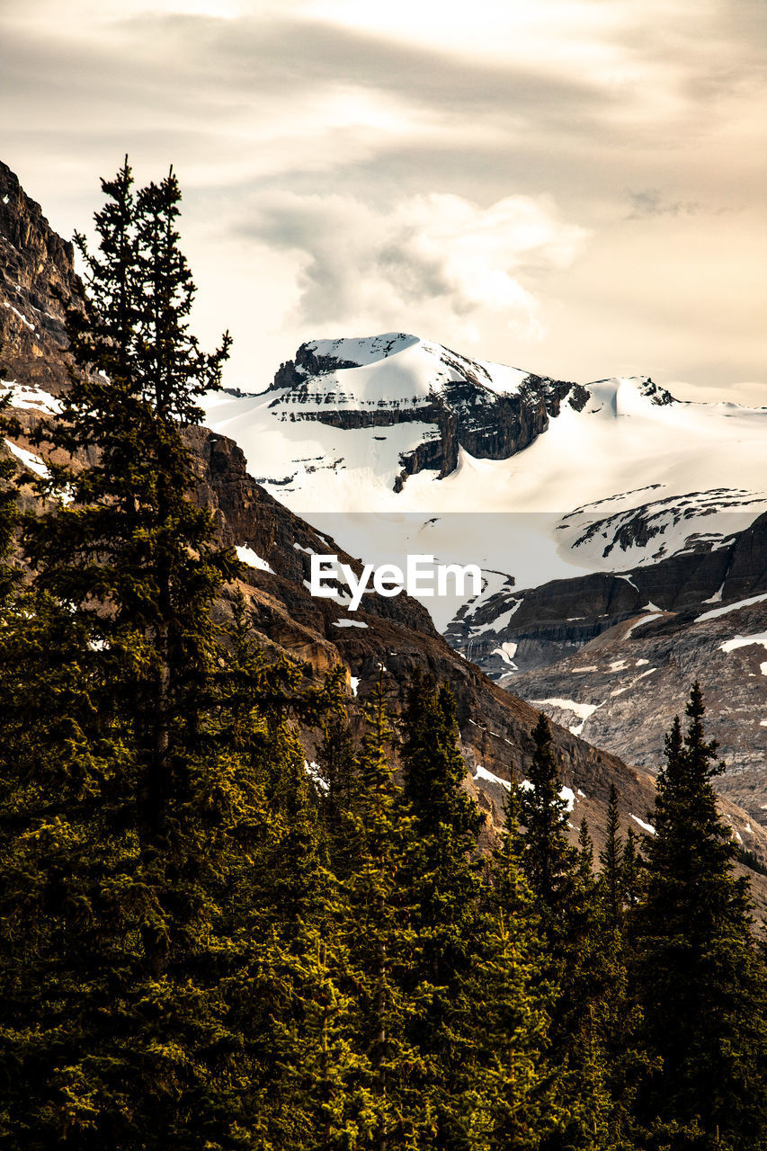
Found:
[{"label": "pale cream cloudy sky above the mountains", "polygon": [[230,384],[405,330],[767,404],[765,0],[0,0],[0,92],[64,236],[173,162]]}]

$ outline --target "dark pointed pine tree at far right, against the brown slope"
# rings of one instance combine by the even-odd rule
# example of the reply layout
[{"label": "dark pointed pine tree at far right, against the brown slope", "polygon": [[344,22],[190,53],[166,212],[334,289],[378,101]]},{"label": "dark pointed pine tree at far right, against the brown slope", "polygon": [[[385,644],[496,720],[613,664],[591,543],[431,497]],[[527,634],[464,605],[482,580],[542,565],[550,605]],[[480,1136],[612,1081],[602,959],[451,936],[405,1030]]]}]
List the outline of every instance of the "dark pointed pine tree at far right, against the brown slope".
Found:
[{"label": "dark pointed pine tree at far right, against the brown slope", "polygon": [[675,1146],[767,1145],[765,971],[747,881],[716,810],[716,744],[693,685],[686,734],[666,739],[637,950],[647,1042],[662,1058],[643,1093],[647,1122],[676,1123]]}]

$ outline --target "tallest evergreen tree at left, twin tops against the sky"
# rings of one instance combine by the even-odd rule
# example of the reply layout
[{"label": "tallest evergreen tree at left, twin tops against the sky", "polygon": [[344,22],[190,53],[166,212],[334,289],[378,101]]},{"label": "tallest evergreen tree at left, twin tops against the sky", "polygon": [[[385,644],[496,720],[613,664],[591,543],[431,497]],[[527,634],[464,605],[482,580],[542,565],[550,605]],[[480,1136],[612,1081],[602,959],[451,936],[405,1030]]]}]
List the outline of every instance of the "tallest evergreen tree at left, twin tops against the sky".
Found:
[{"label": "tallest evergreen tree at left, twin tops against the sky", "polygon": [[[228,337],[207,356],[188,331],[195,284],[179,246],[173,171],[135,197],[126,162],[102,186],[100,254],[78,237],[89,295],[68,313],[79,371],[61,419],[40,433],[71,456],[96,458],[79,471],[52,467],[39,481],[43,494],[66,489],[69,502],[28,517],[25,544],[36,586],[82,622],[107,653],[112,681],[122,680],[137,747],[142,863],[150,886],[164,886],[180,844],[174,807],[195,786],[200,688],[214,655],[211,604],[238,570],[233,552],[214,544],[210,512],[190,498],[195,477],[181,435],[200,416],[196,397],[220,387]],[[158,895],[144,928],[155,975],[180,907],[162,904]]]}]

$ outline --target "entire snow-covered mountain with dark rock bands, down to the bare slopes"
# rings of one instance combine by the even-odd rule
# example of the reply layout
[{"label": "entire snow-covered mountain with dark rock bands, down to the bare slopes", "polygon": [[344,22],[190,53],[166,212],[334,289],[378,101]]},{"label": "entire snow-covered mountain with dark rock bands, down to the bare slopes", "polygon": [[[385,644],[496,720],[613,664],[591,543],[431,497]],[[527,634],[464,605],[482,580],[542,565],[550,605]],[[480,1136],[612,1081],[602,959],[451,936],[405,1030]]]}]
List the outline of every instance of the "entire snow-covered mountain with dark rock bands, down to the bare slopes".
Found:
[{"label": "entire snow-covered mountain with dark rock bands, down to the bare slopes", "polygon": [[[405,334],[304,344],[206,418],[349,550],[479,563],[488,590],[715,547],[767,509],[767,409],[563,383]],[[456,603],[428,605],[443,624]]]}]

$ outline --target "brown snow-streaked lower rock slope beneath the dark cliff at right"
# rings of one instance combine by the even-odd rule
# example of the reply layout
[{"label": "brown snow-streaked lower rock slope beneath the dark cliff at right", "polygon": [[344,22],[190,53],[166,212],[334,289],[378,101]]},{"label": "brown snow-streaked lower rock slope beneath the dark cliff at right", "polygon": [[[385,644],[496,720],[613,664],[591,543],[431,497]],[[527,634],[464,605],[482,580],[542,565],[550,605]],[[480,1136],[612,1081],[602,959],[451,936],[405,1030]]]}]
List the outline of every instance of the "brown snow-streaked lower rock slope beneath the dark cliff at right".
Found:
[{"label": "brown snow-streaked lower rock slope beneath the dark cliff at right", "polygon": [[557,723],[654,773],[663,763],[662,733],[684,714],[696,680],[726,763],[714,785],[752,823],[767,825],[767,593],[645,612],[509,683]]}]

